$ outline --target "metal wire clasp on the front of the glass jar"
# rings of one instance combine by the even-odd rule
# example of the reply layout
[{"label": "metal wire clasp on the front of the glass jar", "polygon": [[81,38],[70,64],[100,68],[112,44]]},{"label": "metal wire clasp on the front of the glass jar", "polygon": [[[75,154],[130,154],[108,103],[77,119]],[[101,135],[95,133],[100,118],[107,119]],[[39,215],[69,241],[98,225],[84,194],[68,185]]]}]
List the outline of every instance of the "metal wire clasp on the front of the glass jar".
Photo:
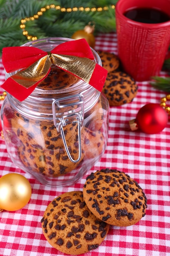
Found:
[{"label": "metal wire clasp on the front of the glass jar", "polygon": [[[54,99],[52,103],[53,121],[57,129],[60,132],[66,153],[71,162],[77,163],[82,157],[82,145],[81,145],[81,129],[84,120],[84,97],[82,94],[71,95],[60,99]],[[64,135],[63,127],[68,123],[76,124],[78,126],[78,158],[75,160],[71,157],[68,150],[66,138]],[[77,135],[75,135],[77,136]]]}]

